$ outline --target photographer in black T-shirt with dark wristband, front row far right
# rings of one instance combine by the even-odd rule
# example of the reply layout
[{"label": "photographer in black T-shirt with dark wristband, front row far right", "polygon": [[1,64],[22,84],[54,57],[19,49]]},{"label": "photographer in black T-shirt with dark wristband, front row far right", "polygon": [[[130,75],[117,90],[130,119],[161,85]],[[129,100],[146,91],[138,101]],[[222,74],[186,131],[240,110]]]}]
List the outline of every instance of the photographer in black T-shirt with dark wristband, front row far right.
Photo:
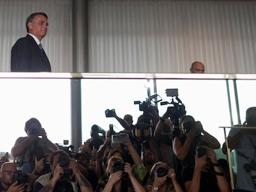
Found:
[{"label": "photographer in black T-shirt with dark wristband, front row far right", "polygon": [[182,170],[181,177],[187,192],[230,192],[229,183],[218,164],[216,153],[202,141],[198,143],[193,167]]}]

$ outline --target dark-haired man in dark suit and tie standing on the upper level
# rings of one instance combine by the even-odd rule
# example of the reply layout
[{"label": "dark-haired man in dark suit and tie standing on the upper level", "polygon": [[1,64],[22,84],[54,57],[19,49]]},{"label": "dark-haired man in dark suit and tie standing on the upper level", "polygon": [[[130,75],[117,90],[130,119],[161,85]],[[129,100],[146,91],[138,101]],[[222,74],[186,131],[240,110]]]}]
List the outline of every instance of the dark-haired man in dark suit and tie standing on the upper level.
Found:
[{"label": "dark-haired man in dark suit and tie standing on the upper level", "polygon": [[41,46],[46,36],[48,17],[43,12],[28,16],[27,36],[16,41],[11,51],[11,72],[51,72],[48,57]]}]

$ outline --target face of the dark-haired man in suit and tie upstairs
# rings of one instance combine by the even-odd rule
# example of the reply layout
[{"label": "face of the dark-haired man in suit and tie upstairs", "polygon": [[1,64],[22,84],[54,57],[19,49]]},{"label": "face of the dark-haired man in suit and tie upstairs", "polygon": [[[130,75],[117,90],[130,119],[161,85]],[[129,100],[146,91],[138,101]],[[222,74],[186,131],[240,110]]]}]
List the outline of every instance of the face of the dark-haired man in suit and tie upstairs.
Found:
[{"label": "face of the dark-haired man in suit and tie upstairs", "polygon": [[28,33],[35,35],[40,41],[46,36],[47,28],[48,20],[43,15],[36,15],[34,21],[28,23]]}]

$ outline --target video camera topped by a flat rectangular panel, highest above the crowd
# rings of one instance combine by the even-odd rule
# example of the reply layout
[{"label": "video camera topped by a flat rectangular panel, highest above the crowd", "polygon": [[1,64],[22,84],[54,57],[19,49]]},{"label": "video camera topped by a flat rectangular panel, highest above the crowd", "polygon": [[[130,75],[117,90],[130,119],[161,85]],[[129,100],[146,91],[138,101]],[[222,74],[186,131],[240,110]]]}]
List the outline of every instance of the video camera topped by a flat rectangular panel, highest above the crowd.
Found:
[{"label": "video camera topped by a flat rectangular panel, highest above the crowd", "polygon": [[[161,106],[171,104],[171,106],[167,108],[167,112],[174,125],[173,136],[175,137],[179,135],[179,118],[186,115],[186,109],[184,104],[182,104],[181,99],[178,98],[179,94],[177,89],[166,89],[165,91],[166,96],[172,97],[171,102],[163,101],[160,102],[160,104]],[[174,99],[176,99],[176,101],[174,101]]]}]

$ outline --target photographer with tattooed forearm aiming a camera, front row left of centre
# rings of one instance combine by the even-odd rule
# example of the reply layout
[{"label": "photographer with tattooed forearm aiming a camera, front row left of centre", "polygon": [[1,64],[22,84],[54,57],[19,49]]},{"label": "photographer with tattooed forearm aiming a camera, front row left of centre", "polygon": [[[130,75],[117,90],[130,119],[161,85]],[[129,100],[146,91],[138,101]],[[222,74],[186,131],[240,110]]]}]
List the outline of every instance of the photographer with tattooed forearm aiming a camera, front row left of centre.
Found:
[{"label": "photographer with tattooed forearm aiming a camera, front row left of centre", "polygon": [[53,152],[51,173],[41,175],[35,182],[33,191],[90,191],[92,185],[79,172],[78,162],[62,150]]}]

